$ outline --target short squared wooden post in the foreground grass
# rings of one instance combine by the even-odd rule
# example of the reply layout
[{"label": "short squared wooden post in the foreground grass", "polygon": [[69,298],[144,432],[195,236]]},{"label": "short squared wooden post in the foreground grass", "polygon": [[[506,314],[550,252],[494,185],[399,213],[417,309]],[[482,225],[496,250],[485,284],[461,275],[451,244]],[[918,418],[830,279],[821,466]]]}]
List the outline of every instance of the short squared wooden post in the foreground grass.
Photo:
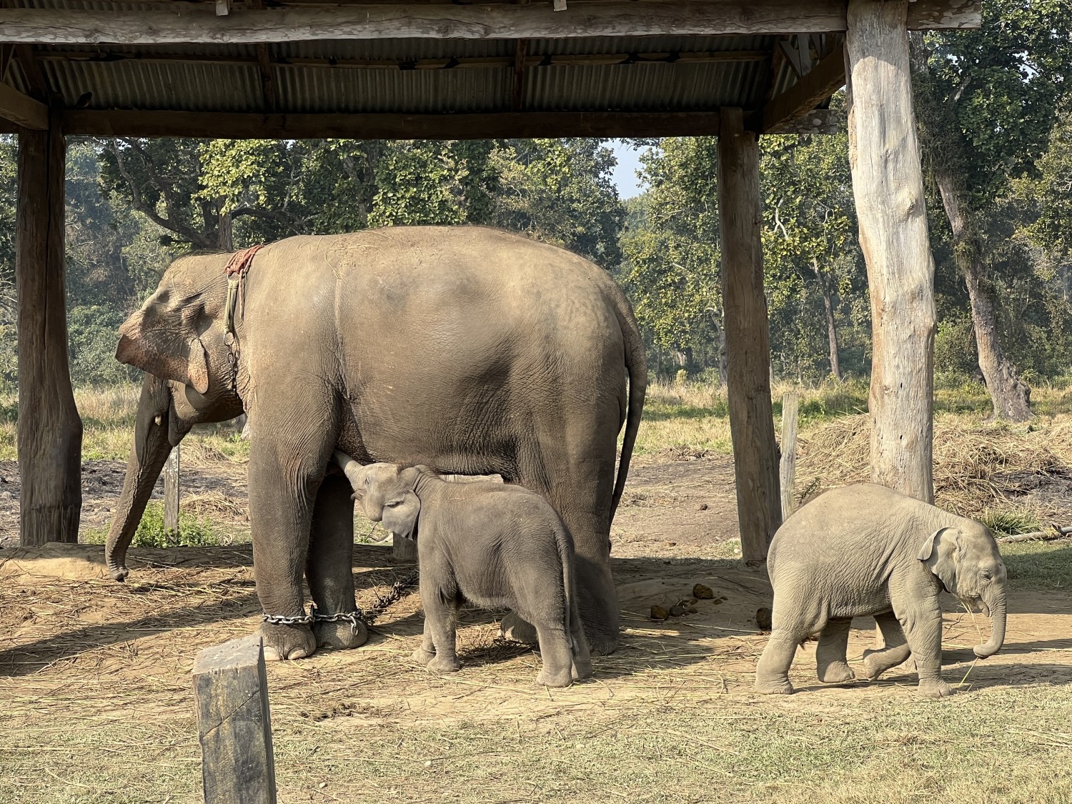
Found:
[{"label": "short squared wooden post in the foreground grass", "polygon": [[194,660],[193,676],[205,804],[276,804],[260,638],[206,647]]}]

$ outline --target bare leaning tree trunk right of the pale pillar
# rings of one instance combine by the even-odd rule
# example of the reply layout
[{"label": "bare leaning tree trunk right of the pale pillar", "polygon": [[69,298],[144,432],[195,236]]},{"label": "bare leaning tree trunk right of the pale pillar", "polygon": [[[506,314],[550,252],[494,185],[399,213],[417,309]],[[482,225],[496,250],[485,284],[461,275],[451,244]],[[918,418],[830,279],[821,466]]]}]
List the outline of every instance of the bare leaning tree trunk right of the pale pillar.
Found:
[{"label": "bare leaning tree trunk right of the pale pillar", "polygon": [[936,164],[932,174],[938,184],[949,225],[953,229],[956,267],[968,287],[971,325],[979,351],[979,370],[983,372],[986,390],[994,405],[993,418],[1026,421],[1031,418],[1031,389],[1021,382],[1015,364],[1006,357],[1001,347],[994,299],[989,283],[985,280],[979,236],[968,224],[952,173]]}]

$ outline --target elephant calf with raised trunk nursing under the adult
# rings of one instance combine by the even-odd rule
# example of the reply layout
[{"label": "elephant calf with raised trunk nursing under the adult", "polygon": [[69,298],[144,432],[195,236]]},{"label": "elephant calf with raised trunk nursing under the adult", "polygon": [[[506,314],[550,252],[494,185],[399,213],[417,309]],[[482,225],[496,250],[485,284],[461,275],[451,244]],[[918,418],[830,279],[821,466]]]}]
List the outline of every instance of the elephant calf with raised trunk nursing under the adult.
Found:
[{"label": "elephant calf with raised trunk nursing under the adult", "polygon": [[574,540],[539,494],[490,481],[450,482],[425,466],[361,466],[336,452],[366,516],[417,540],[425,637],[413,657],[435,672],[461,665],[458,607],[510,608],[536,628],[538,684],[592,675],[574,586]]}]

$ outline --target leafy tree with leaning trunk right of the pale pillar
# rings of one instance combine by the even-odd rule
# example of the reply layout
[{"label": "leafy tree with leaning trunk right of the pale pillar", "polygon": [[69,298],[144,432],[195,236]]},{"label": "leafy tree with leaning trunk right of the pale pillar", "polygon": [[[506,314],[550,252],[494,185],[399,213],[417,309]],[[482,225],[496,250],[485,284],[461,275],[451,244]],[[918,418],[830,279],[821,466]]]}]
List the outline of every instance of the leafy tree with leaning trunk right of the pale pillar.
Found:
[{"label": "leafy tree with leaning trunk right of the pale pillar", "polygon": [[1069,30],[1066,0],[997,0],[984,4],[979,30],[911,38],[925,167],[949,222],[996,418],[1030,417],[1030,390],[999,336],[985,219],[1045,149],[1072,81]]}]

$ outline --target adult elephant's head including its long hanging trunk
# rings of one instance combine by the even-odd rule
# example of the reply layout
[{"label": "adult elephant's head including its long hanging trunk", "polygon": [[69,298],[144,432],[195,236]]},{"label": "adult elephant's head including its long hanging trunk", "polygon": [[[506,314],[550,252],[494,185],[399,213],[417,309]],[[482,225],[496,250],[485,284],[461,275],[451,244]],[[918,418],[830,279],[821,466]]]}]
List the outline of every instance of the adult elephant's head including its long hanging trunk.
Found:
[{"label": "adult elephant's head including its long hanging trunk", "polygon": [[228,255],[176,260],[160,286],[119,329],[116,358],[146,372],[123,491],[108,530],[105,560],[123,580],[126,548],[172,448],[199,422],[242,412],[224,342]]}]

